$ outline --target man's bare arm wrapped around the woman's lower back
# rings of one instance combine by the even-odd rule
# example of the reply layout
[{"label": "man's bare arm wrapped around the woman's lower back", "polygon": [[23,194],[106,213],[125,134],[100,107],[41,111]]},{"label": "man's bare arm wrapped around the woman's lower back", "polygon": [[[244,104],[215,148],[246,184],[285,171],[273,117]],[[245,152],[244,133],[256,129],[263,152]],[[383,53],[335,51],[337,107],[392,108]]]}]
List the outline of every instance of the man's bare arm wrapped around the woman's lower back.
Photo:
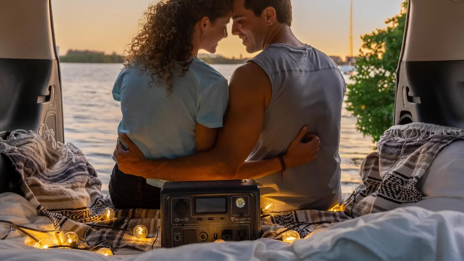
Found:
[{"label": "man's bare arm wrapped around the woman's lower back", "polygon": [[[232,179],[255,146],[263,126],[264,95],[269,78],[262,69],[247,63],[232,75],[229,108],[224,127],[219,130],[213,149],[170,160],[137,160],[125,157],[131,153],[116,148],[121,171],[145,178],[172,181]],[[127,137],[121,137],[123,141]],[[130,141],[129,141],[130,143]],[[276,170],[277,171],[277,170]]]}]

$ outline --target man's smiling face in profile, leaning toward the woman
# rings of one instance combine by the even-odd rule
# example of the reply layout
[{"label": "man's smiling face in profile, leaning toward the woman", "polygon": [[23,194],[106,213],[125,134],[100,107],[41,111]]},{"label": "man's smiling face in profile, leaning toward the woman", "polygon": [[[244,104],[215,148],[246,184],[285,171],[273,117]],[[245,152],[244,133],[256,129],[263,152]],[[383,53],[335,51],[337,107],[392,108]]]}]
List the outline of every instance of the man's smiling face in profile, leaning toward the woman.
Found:
[{"label": "man's smiling face in profile, leaning toward the woman", "polygon": [[242,40],[246,52],[263,50],[268,27],[263,16],[256,16],[252,10],[245,9],[245,0],[234,0],[232,19],[232,34]]}]

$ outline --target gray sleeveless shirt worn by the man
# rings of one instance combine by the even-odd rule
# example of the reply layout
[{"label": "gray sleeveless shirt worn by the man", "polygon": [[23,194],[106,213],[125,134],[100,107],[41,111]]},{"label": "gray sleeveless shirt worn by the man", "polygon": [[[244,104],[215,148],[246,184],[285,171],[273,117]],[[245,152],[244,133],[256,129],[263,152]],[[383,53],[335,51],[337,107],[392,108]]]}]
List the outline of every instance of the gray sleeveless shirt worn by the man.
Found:
[{"label": "gray sleeveless shirt worn by the man", "polygon": [[337,65],[311,46],[272,44],[248,62],[258,64],[271,80],[271,102],[247,160],[276,157],[288,149],[303,125],[321,140],[316,160],[257,179],[261,204],[274,211],[327,210],[341,197],[340,121],[346,83]]}]

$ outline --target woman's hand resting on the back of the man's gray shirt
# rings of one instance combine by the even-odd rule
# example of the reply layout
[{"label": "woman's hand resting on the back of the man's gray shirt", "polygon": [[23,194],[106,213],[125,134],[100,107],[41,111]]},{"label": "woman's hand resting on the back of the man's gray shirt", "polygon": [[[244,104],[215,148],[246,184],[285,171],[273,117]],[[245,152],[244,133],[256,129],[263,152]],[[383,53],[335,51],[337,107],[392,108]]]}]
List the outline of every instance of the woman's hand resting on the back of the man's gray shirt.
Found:
[{"label": "woman's hand resting on the back of the man's gray shirt", "polygon": [[[300,166],[316,159],[317,151],[321,142],[319,137],[314,134],[307,134],[308,128],[303,126],[296,138],[290,143],[287,152],[284,155],[284,161],[287,168]],[[309,140],[304,143],[302,140]]]}]

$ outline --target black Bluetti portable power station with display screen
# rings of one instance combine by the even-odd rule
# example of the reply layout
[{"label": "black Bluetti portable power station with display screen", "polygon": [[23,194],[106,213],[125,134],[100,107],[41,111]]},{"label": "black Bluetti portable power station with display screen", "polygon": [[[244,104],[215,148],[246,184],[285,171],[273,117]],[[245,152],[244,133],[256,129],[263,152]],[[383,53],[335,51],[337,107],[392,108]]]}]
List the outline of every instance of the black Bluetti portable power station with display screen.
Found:
[{"label": "black Bluetti portable power station with display screen", "polygon": [[161,189],[161,247],[261,237],[254,180],[167,182]]}]

